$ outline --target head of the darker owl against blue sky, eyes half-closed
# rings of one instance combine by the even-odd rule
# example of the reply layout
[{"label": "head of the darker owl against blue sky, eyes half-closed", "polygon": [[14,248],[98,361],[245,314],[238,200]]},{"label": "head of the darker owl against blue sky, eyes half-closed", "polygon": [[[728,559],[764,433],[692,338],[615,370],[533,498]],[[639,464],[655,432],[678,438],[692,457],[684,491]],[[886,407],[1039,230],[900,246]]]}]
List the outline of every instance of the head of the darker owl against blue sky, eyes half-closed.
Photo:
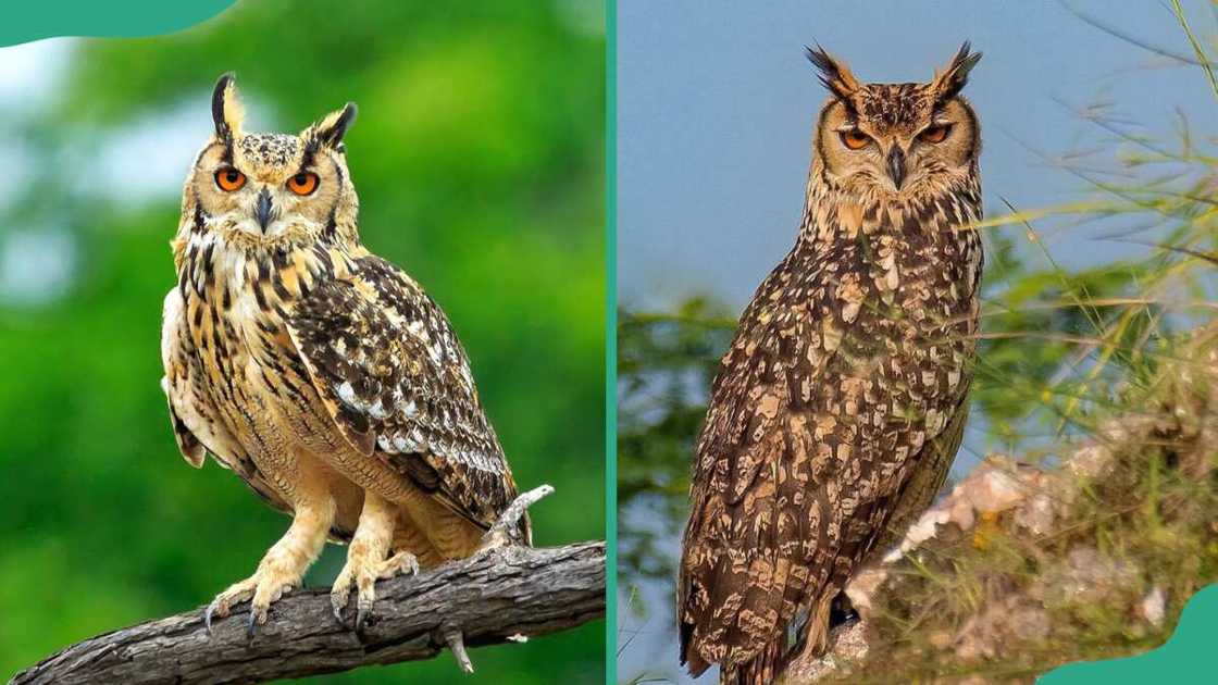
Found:
[{"label": "head of the darker owl against blue sky, eyes half-closed", "polygon": [[809,48],[829,90],[814,165],[837,185],[879,197],[926,196],[976,176],[980,130],[960,91],[980,57],[965,43],[926,83],[862,83],[845,62]]}]

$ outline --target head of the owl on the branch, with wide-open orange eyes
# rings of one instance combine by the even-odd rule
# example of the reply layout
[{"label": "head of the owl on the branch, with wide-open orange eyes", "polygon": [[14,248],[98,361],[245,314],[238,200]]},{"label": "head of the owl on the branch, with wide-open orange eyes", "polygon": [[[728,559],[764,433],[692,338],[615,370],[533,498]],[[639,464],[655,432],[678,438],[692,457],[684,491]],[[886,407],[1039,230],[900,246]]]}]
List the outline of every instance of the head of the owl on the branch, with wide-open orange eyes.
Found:
[{"label": "head of the owl on the branch, with wide-open orange eyes", "polygon": [[183,194],[183,230],[213,230],[240,246],[358,240],[359,201],[342,137],[356,106],[298,134],[246,133],[231,74],[212,95],[216,132],[199,152]]}]

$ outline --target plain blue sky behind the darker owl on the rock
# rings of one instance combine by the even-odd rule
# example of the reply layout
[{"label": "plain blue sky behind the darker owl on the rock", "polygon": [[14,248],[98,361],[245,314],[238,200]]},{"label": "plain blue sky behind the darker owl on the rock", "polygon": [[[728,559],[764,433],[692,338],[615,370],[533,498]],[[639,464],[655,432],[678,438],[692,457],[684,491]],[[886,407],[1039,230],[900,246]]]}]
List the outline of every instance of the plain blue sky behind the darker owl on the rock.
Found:
[{"label": "plain blue sky behind the darker owl on the rock", "polygon": [[[1184,2],[1213,46],[1218,9]],[[982,121],[985,206],[1078,201],[1086,184],[1046,158],[1106,139],[1071,107],[1107,104],[1128,130],[1173,139],[1177,111],[1216,143],[1218,100],[1195,66],[1134,48],[1071,12],[1181,55],[1168,1],[847,2],[619,0],[618,284],[624,306],[664,308],[711,295],[738,311],[790,247],[811,126],[825,101],[805,44],[864,80],[926,80],[965,40],[984,52],[966,95]],[[1111,224],[1038,223],[1067,268],[1136,257]],[[1015,233],[1022,235],[1022,232]],[[959,460],[961,468],[976,458]],[[624,512],[622,516],[646,512]],[[676,552],[676,541],[669,541]],[[619,676],[689,683],[676,662],[671,587],[637,589],[646,614],[619,616]],[[704,681],[714,681],[711,675]],[[648,680],[654,681],[654,680]]]}]

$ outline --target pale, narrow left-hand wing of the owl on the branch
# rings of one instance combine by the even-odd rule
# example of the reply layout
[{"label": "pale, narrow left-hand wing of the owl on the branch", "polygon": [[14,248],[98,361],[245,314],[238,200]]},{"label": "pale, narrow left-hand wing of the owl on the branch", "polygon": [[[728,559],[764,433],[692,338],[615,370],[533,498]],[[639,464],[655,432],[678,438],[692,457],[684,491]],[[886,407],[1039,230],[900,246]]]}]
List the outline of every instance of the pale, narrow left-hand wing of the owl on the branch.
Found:
[{"label": "pale, narrow left-hand wing of the owl on the branch", "polygon": [[186,328],[181,293],[177,288],[166,295],[162,317],[161,362],[164,377],[161,378],[161,389],[169,402],[169,421],[181,456],[190,466],[201,468],[209,452],[217,463],[240,475],[272,507],[291,511],[263,479],[203,390],[203,371]]}]

